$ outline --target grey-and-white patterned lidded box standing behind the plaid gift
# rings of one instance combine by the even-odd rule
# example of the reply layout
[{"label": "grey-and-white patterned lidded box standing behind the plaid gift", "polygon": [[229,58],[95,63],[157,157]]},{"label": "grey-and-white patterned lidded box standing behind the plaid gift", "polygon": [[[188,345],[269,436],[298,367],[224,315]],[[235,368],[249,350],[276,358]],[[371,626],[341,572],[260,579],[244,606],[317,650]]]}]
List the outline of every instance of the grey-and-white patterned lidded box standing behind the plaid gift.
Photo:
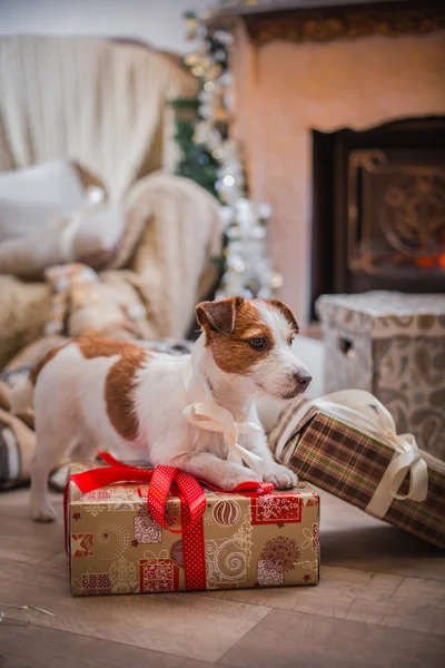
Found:
[{"label": "grey-and-white patterned lidded box standing behind the plaid gift", "polygon": [[323,295],[316,310],[325,392],[372,392],[399,432],[445,460],[445,295]]}]

